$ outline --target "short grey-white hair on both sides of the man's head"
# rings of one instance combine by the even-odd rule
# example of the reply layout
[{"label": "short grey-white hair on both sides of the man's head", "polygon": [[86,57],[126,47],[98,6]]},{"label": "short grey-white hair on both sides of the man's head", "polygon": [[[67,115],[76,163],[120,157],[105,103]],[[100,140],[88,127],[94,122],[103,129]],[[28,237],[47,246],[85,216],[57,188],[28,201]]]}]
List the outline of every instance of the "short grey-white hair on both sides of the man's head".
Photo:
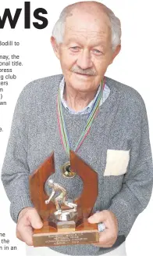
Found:
[{"label": "short grey-white hair on both sides of the man's head", "polygon": [[[75,4],[73,4],[75,5]],[[70,15],[70,11],[72,10],[73,5],[68,5],[64,9],[62,9],[62,13],[59,16],[59,20],[55,23],[55,26],[52,30],[52,37],[55,38],[57,43],[62,43],[63,35],[65,31],[65,21],[66,17]],[[103,5],[103,4],[101,4]],[[112,51],[116,49],[117,45],[121,43],[121,23],[119,18],[115,16],[111,9],[107,6],[103,5],[104,11],[107,16],[109,16],[109,20],[111,23],[111,31],[112,31]]]}]

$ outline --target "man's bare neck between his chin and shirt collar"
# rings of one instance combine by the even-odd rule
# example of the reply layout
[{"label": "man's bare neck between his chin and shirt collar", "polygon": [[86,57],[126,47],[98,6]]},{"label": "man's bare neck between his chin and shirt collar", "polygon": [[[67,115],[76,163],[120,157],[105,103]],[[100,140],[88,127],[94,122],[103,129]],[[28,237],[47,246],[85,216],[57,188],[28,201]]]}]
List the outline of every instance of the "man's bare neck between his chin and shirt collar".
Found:
[{"label": "man's bare neck between his chin and shirt collar", "polygon": [[71,109],[80,111],[84,110],[84,108],[91,103],[91,100],[94,99],[97,91],[98,88],[91,92],[78,92],[73,88],[67,88],[65,86],[63,97]]}]

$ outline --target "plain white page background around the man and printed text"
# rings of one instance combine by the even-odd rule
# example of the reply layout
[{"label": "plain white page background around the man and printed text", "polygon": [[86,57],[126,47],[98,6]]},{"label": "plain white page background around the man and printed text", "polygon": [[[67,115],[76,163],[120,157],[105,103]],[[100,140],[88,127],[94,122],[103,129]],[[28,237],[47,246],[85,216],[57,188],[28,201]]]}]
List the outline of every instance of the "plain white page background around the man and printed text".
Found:
[{"label": "plain white page background around the man and printed text", "polygon": [[[61,73],[59,60],[55,58],[50,45],[52,27],[59,18],[62,9],[76,1],[30,1],[31,3],[31,28],[24,29],[24,2],[21,0],[0,2],[0,16],[4,9],[11,9],[14,15],[16,8],[22,8],[16,29],[10,29],[9,22],[0,30],[0,41],[20,41],[20,47],[0,46],[0,55],[19,54],[23,67],[14,68],[17,75],[15,81],[10,81],[4,87],[3,100],[6,106],[0,106],[0,169],[5,157],[5,149],[9,139],[12,114],[21,90],[28,82],[52,74]],[[112,0],[98,1],[108,5],[119,17],[122,23],[122,51],[114,63],[109,67],[107,76],[137,89],[141,93],[148,111],[151,147],[153,147],[153,100],[152,100],[152,1],[146,0]],[[33,27],[34,9],[44,8],[48,11],[48,27],[37,30]],[[1,67],[0,67],[1,68]],[[2,88],[2,86],[0,86]],[[25,255],[25,245],[16,239],[16,224],[9,215],[9,200],[0,181],[0,233],[6,233],[12,246],[17,246],[18,251],[0,251],[1,255]],[[153,198],[148,207],[139,215],[126,239],[127,256],[153,255]]]}]

